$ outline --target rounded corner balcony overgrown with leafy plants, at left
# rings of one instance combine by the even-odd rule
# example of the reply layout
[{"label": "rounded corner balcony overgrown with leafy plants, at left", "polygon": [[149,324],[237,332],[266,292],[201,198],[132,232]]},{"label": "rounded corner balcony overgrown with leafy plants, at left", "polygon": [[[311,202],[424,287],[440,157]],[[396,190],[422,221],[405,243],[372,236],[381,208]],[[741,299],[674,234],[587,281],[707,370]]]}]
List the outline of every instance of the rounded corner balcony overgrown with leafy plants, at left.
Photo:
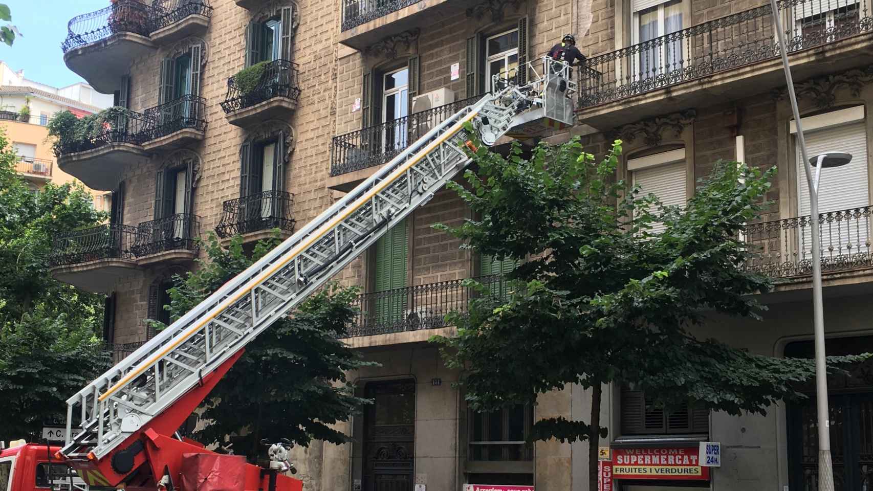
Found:
[{"label": "rounded corner balcony overgrown with leafy plants, at left", "polygon": [[147,120],[141,113],[124,111],[84,138],[63,142],[58,167],[88,188],[112,191],[118,188],[121,171],[148,159],[142,148]]}]

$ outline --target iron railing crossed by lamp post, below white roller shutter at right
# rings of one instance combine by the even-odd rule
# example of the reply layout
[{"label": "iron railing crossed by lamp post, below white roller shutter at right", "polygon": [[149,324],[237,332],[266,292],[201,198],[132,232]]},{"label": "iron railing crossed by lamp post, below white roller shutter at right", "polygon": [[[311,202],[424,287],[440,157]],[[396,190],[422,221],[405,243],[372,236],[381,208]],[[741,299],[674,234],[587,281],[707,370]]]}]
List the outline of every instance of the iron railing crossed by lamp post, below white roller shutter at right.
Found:
[{"label": "iron railing crossed by lamp post, below white roller shutter at right", "polygon": [[[873,266],[871,210],[873,207],[863,207],[819,215],[822,272]],[[809,216],[750,224],[743,240],[753,255],[746,269],[773,278],[812,274]]]}]

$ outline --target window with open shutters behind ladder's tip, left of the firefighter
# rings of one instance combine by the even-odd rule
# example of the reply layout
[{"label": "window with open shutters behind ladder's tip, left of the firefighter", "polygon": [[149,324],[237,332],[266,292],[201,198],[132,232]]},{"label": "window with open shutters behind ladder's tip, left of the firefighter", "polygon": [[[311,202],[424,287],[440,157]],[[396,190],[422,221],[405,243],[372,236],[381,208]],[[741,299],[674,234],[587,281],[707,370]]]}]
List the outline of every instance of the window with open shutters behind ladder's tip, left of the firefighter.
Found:
[{"label": "window with open shutters behind ladder's tip, left of the firefighter", "polygon": [[489,92],[491,76],[517,77],[519,84],[526,83],[527,70],[527,17],[519,18],[511,30],[492,34],[478,34],[467,38],[467,62],[464,65],[466,97]]}]

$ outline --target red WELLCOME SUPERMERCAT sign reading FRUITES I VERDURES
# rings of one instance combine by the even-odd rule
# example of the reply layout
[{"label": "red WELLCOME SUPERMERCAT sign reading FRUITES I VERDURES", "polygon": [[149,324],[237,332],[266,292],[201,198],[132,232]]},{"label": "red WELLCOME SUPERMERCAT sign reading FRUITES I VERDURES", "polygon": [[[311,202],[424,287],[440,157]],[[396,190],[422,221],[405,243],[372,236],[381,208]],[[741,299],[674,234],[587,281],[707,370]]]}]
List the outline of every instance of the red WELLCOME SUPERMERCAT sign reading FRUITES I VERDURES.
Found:
[{"label": "red WELLCOME SUPERMERCAT sign reading FRUITES I VERDURES", "polygon": [[709,467],[700,465],[698,447],[613,448],[615,479],[709,481]]}]

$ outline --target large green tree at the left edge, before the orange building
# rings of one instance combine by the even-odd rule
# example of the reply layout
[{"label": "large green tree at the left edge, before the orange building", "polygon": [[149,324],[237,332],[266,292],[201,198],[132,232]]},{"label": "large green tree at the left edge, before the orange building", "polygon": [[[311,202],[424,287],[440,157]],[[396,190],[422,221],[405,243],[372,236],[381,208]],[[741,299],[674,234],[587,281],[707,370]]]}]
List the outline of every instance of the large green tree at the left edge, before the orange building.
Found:
[{"label": "large green tree at the left edge, before the orange building", "polygon": [[38,435],[65,399],[107,368],[103,298],[52,278],[52,236],[104,218],[80,185],[34,192],[0,133],[0,440]]}]

